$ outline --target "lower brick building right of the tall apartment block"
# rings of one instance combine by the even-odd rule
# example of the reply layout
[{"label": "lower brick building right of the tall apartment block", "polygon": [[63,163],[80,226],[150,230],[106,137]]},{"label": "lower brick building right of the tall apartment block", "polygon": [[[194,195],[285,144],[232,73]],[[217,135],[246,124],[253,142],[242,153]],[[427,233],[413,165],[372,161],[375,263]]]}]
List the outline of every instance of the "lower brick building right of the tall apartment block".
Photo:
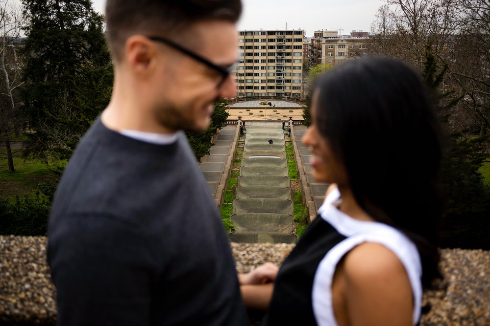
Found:
[{"label": "lower brick building right of the tall apartment block", "polygon": [[315,64],[340,65],[345,60],[366,54],[367,37],[355,33],[352,37],[341,37],[338,31],[316,31],[311,40],[310,60]]}]

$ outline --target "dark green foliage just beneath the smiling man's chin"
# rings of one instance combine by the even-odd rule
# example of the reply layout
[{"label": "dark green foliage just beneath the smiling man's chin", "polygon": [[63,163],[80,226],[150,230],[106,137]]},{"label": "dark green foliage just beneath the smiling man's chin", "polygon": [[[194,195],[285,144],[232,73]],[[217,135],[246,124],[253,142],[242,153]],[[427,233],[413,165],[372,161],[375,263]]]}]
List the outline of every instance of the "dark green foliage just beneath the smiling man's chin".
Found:
[{"label": "dark green foliage just beneath the smiling man's chin", "polygon": [[221,129],[226,125],[226,119],[230,115],[226,112],[226,106],[228,102],[225,99],[220,99],[214,105],[213,114],[211,114],[211,124],[204,132],[186,132],[189,144],[196,155],[196,159],[199,161],[202,156],[209,154],[209,150],[213,144],[211,144],[211,137],[216,133],[217,129]]}]

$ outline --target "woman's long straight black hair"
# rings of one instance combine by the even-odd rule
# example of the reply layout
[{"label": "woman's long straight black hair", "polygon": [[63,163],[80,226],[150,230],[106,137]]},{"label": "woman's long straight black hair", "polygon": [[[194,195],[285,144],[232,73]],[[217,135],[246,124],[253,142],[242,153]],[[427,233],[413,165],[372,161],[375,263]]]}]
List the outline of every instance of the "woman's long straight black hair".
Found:
[{"label": "woman's long straight black hair", "polygon": [[345,165],[358,204],[416,245],[422,284],[440,278],[440,129],[428,91],[390,58],[349,61],[321,75],[315,122]]}]

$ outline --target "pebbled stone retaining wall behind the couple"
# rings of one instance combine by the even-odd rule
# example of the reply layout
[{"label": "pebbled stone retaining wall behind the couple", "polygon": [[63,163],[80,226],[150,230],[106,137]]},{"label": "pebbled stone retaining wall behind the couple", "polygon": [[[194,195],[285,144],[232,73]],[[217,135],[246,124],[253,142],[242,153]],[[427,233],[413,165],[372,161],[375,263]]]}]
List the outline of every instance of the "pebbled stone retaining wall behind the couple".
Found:
[{"label": "pebbled stone retaining wall behind the couple", "polygon": [[[0,236],[0,325],[56,325],[55,290],[46,264],[46,237]],[[231,243],[240,272],[281,264],[294,244]],[[426,291],[421,326],[490,325],[490,251],[441,250],[445,281]]]}]

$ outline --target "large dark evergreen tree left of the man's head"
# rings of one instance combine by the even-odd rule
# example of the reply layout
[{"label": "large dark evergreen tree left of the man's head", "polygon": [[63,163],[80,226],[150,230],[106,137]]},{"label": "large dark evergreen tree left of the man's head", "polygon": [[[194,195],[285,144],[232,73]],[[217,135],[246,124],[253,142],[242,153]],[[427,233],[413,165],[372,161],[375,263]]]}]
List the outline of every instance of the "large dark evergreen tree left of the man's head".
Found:
[{"label": "large dark evergreen tree left of the man's head", "polygon": [[23,0],[27,153],[69,158],[107,106],[113,66],[90,0]]}]

